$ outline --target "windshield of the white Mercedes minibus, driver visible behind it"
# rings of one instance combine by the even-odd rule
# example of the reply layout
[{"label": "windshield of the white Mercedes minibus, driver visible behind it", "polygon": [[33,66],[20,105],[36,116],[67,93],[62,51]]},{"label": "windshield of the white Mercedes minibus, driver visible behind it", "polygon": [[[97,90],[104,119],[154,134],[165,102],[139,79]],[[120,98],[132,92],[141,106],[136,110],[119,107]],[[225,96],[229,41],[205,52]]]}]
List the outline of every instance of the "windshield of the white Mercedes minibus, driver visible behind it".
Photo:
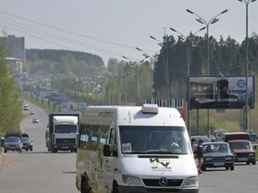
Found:
[{"label": "windshield of the white Mercedes minibus, driver visible behind it", "polygon": [[187,154],[190,141],[184,127],[120,126],[122,153]]}]

